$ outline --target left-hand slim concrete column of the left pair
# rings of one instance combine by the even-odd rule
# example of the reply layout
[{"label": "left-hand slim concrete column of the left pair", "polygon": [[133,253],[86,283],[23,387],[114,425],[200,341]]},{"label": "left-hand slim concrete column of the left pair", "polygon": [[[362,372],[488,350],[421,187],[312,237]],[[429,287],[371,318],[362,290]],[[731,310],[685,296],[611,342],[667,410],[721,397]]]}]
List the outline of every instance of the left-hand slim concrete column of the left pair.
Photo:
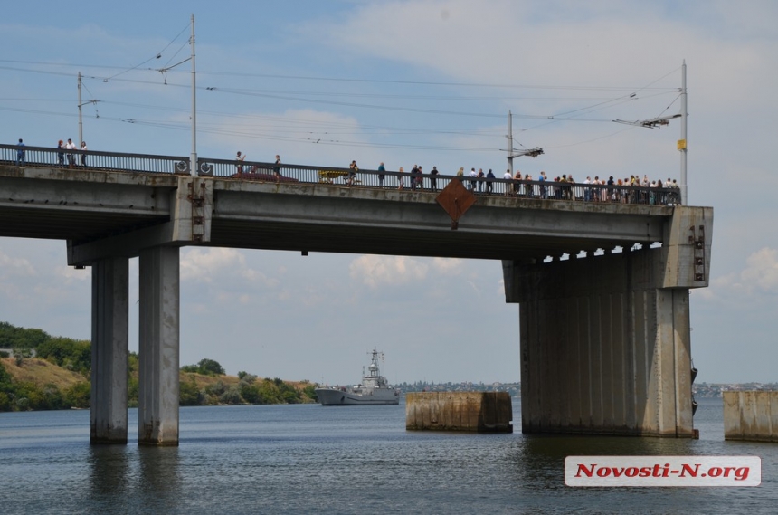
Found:
[{"label": "left-hand slim concrete column of the left pair", "polygon": [[128,261],[92,264],[90,443],[127,443]]}]

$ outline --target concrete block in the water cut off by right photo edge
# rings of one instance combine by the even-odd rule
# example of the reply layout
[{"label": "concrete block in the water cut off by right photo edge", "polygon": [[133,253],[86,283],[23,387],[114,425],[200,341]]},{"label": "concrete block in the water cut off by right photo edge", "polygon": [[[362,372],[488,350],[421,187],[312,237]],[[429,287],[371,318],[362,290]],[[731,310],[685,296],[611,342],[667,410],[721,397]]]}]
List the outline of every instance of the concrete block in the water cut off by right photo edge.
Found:
[{"label": "concrete block in the water cut off by right photo edge", "polygon": [[778,392],[724,392],[724,439],[778,442]]}]

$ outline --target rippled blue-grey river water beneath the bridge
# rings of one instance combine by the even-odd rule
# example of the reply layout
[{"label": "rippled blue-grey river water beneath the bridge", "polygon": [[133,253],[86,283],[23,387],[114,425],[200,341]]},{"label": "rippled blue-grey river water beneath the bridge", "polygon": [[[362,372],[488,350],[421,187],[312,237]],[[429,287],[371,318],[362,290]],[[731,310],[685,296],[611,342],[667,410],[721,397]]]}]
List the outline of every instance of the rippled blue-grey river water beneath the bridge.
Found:
[{"label": "rippled blue-grey river water beneath the bridge", "polygon": [[[516,401],[514,416],[520,405]],[[778,444],[406,432],[404,405],[181,408],[177,448],[90,446],[88,411],[0,414],[0,513],[776,513]],[[566,455],[758,455],[762,484],[571,488]]]}]

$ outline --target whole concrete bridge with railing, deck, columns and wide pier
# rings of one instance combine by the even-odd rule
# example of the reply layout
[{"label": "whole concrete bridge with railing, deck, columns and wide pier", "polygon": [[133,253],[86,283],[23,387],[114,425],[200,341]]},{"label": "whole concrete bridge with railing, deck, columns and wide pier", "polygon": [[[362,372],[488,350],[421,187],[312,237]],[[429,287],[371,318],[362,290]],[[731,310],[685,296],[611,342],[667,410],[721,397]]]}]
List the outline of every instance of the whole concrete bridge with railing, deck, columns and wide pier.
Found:
[{"label": "whole concrete bridge with railing, deck, columns and wide pier", "polygon": [[127,442],[132,257],[138,443],[178,443],[185,245],[499,260],[525,433],[694,435],[688,291],[707,286],[713,209],[677,190],[71,153],[0,145],[0,236],[65,240],[91,267],[92,443]]}]

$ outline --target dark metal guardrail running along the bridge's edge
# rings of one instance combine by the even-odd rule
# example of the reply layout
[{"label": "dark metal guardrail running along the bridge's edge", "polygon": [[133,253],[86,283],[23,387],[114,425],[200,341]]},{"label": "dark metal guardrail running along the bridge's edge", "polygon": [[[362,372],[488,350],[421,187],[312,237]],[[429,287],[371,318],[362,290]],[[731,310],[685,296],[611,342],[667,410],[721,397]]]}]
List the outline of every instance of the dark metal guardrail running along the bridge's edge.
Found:
[{"label": "dark metal guardrail running along the bridge's edge", "polygon": [[[189,175],[189,157],[126,154],[94,150],[66,150],[47,147],[24,147],[24,159],[18,159],[19,147],[0,144],[0,162],[16,166],[62,167],[105,171],[131,171]],[[233,159],[198,159],[199,176],[266,182],[300,182],[332,186],[349,186],[349,168],[309,167],[242,161]],[[412,180],[415,179],[415,180]],[[555,181],[526,181],[469,176],[413,177],[410,173],[359,170],[349,187],[395,188],[403,191],[439,192],[452,180],[460,180],[475,195],[503,195],[542,200],[576,200],[641,205],[678,205],[680,189],[645,186],[585,185]]]}]

